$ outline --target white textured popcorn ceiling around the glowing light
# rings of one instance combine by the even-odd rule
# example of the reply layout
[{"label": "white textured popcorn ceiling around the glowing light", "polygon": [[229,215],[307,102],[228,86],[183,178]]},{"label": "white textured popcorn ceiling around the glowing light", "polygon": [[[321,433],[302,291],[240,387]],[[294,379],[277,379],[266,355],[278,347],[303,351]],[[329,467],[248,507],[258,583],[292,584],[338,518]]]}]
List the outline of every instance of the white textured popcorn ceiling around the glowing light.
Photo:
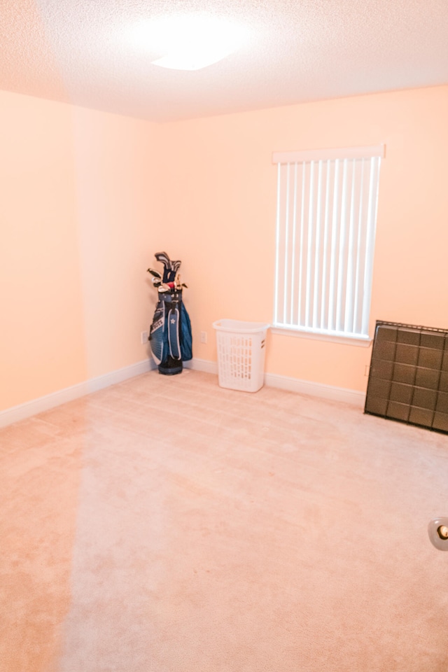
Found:
[{"label": "white textured popcorn ceiling around the glowing light", "polygon": [[[207,12],[239,52],[159,68],[132,27]],[[448,83],[448,0],[1,0],[0,88],[154,121]]]}]

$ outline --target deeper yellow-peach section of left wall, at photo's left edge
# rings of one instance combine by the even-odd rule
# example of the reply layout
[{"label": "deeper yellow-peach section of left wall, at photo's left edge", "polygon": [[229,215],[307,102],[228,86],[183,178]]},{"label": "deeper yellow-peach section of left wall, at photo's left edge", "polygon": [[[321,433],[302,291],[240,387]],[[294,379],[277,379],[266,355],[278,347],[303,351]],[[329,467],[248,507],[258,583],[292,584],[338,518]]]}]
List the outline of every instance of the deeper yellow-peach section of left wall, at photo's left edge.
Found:
[{"label": "deeper yellow-peach section of left wall, at photo's left edge", "polygon": [[85,379],[69,106],[0,93],[0,408]]}]

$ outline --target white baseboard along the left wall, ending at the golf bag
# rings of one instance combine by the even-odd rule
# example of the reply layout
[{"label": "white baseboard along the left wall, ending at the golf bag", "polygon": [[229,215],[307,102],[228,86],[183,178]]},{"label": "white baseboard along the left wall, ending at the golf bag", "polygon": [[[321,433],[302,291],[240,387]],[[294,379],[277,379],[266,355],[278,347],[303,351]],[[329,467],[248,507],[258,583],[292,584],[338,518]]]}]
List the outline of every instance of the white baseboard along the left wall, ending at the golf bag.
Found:
[{"label": "white baseboard along the left wall, ending at the golf bag", "polygon": [[18,422],[19,420],[25,420],[25,418],[29,418],[37,413],[42,413],[43,411],[48,411],[48,409],[60,406],[67,401],[73,401],[73,399],[78,399],[91,392],[97,392],[98,390],[102,390],[110,385],[115,385],[128,378],[139,376],[142,373],[151,371],[153,368],[155,368],[153,360],[145,359],[136,364],[125,366],[123,369],[111,371],[111,373],[106,373],[102,376],[97,376],[96,378],[91,378],[90,380],[78,383],[77,385],[72,385],[63,390],[53,392],[52,394],[47,394],[44,397],[33,399],[25,404],[7,408],[4,411],[0,411],[0,427],[5,427],[13,422]]}]

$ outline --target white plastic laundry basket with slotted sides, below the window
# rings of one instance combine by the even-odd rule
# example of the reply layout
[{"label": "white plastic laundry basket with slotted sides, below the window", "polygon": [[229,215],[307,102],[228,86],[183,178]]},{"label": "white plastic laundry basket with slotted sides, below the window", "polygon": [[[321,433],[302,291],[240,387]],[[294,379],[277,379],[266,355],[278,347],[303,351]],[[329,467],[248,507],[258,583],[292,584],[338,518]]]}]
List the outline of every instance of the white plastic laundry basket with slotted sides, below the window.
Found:
[{"label": "white plastic laundry basket with slotted sides, below the window", "polygon": [[218,383],[231,390],[256,392],[265,381],[265,343],[269,324],[218,320]]}]

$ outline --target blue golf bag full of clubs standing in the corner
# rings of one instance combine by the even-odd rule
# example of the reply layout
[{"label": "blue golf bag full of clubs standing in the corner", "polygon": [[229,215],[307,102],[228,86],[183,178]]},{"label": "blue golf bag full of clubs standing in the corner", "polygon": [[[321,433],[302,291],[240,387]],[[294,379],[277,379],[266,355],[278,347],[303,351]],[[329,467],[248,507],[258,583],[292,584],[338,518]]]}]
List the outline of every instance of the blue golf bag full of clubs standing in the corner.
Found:
[{"label": "blue golf bag full of clubs standing in the corner", "polygon": [[159,372],[170,376],[181,373],[183,362],[193,357],[190,317],[183,305],[179,278],[180,261],[171,261],[166,252],[155,255],[165,269],[163,276],[153,269],[153,284],[158,288],[159,300],[155,307],[149,342]]}]

